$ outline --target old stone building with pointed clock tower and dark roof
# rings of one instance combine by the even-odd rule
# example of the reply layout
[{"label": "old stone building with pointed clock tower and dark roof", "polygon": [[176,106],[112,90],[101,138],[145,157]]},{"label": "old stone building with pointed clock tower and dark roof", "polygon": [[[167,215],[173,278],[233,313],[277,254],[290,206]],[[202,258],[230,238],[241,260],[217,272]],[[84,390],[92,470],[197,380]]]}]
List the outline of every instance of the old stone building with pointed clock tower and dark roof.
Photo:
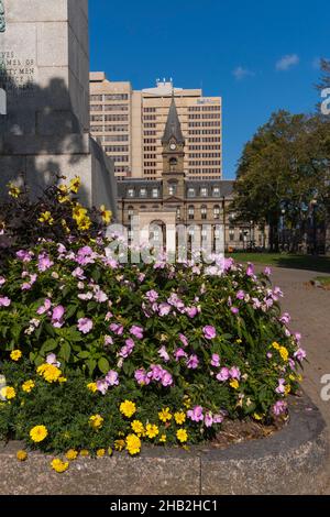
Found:
[{"label": "old stone building with pointed clock tower and dark roof", "polygon": [[[180,130],[175,101],[167,119],[163,142],[163,175],[160,179],[131,178],[118,184],[118,218],[130,229],[133,217],[140,218],[140,227],[154,222],[184,226],[191,237],[211,227],[213,246],[223,239],[227,250],[244,250],[252,245],[264,246],[267,235],[251,224],[238,223],[231,209],[234,182],[193,180],[185,173],[185,140]],[[219,231],[220,230],[220,231]],[[145,231],[145,230],[144,230]],[[147,235],[144,235],[145,238]]]}]

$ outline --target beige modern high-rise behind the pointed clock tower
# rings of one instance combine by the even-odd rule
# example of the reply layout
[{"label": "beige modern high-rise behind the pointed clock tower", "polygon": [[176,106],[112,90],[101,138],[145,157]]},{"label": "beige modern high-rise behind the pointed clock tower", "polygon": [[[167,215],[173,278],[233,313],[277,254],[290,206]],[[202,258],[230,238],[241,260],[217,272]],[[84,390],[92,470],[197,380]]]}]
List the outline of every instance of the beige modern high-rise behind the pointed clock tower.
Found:
[{"label": "beige modern high-rise behind the pointed clock tower", "polygon": [[221,97],[201,89],[175,88],[157,80],[155,88],[132,89],[129,81],[90,74],[90,131],[114,161],[116,176],[157,179],[163,173],[163,146],[172,98],[185,138],[185,172],[190,179],[222,178]]}]

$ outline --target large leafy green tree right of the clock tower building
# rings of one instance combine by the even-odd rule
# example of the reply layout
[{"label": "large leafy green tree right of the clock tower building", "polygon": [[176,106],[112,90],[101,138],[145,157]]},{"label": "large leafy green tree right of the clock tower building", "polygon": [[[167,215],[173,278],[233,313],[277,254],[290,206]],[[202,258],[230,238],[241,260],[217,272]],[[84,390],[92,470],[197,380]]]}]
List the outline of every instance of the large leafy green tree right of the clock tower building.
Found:
[{"label": "large leafy green tree right of the clock tower building", "polygon": [[304,226],[304,208],[326,193],[326,140],[318,117],[280,110],[244,147],[233,208],[241,219],[270,226],[271,251],[278,251],[283,212],[294,234]]}]

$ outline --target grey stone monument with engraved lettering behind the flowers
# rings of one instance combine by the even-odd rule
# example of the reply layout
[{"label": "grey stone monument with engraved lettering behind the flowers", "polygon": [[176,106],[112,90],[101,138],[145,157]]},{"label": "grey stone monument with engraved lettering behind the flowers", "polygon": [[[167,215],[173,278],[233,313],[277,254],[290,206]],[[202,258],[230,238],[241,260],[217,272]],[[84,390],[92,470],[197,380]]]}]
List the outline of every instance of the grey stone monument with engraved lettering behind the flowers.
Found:
[{"label": "grey stone monument with engraved lettering behind the flowers", "polygon": [[0,195],[25,173],[82,180],[82,200],[116,212],[113,163],[89,135],[88,0],[0,0]]}]

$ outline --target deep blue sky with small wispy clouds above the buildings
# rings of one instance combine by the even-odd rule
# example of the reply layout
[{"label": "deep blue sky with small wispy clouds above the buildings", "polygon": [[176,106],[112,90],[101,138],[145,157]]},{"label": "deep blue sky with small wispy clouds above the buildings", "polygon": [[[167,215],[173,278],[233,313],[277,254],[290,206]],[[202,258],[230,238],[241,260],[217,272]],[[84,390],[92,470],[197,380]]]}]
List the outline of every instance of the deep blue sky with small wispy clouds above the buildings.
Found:
[{"label": "deep blue sky with small wispy clouds above the buildings", "polygon": [[90,0],[91,69],[147,88],[157,77],[223,98],[223,174],[277,109],[318,102],[329,0]]}]

